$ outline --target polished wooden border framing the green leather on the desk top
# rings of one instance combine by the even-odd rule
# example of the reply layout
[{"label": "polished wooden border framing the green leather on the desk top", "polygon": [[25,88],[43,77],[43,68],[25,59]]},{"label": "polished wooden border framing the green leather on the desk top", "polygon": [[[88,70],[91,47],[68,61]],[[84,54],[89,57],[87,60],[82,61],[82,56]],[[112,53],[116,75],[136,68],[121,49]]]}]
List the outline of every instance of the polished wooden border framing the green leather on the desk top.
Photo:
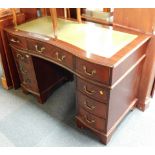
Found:
[{"label": "polished wooden border framing the green leather on the desk top", "polygon": [[20,31],[20,30],[16,31],[14,28],[6,28],[6,30],[7,30],[7,32],[10,32],[11,34],[14,34],[14,35],[19,35],[21,37],[23,36],[25,38],[32,38],[32,39],[35,39],[38,41],[43,41],[43,42],[49,43],[51,45],[60,47],[61,49],[64,49],[81,59],[87,60],[88,62],[92,62],[92,63],[99,64],[99,65],[106,65],[106,66],[113,66],[114,64],[121,62],[123,60],[122,59],[123,54],[126,54],[127,56],[130,55],[132,53],[131,49],[133,49],[133,52],[134,52],[134,50],[136,50],[138,47],[143,45],[145,42],[147,42],[151,38],[151,36],[147,35],[147,34],[142,34],[142,33],[135,32],[135,31],[125,30],[123,28],[117,29],[115,27],[114,30],[119,30],[119,31],[123,31],[126,33],[136,34],[136,35],[138,35],[138,37],[134,41],[129,43],[125,48],[122,48],[120,51],[118,51],[112,57],[105,58],[105,57],[95,55],[93,53],[90,54],[88,57],[87,51],[82,50],[76,46],[73,46],[73,45],[71,45],[67,42],[61,41],[59,39],[54,40],[53,38],[50,38],[50,37],[44,36],[44,35],[40,35],[40,34],[33,35],[33,33],[29,34],[27,32]]}]

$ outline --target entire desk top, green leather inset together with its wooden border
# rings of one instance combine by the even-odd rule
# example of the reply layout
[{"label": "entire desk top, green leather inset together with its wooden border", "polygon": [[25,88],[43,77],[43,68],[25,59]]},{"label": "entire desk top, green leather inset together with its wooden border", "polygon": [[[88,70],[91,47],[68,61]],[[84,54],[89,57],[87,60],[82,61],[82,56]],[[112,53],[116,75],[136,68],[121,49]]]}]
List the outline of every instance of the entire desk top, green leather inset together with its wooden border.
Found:
[{"label": "entire desk top, green leather inset together with its wooden border", "polygon": [[[55,24],[57,26],[52,26],[54,21],[52,18],[56,20],[54,23],[57,23]],[[151,38],[149,34],[120,29],[119,27],[107,27],[90,22],[79,23],[57,17],[52,18],[44,16],[16,25],[13,28],[14,34],[48,41],[51,44],[59,44],[62,48],[65,44],[70,49],[74,48],[81,51],[76,52],[75,50],[75,55],[83,56],[82,58],[90,62],[95,61],[100,65],[111,67],[121,61],[122,53],[126,52],[127,55],[132,53],[129,52],[128,47],[138,48],[135,46],[136,44],[143,44]],[[11,31],[13,29],[11,27]],[[7,28],[7,31],[9,31],[9,28]],[[55,34],[57,38],[55,38]],[[96,58],[98,58],[97,61]]]}]

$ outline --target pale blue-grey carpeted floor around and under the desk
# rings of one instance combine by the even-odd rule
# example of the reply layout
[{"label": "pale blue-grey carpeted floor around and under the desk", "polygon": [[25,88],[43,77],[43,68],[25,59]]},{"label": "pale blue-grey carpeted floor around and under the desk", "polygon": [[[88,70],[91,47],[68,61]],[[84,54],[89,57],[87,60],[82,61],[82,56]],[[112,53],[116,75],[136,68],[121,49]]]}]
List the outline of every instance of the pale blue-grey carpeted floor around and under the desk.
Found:
[{"label": "pale blue-grey carpeted floor around and under the desk", "polygon": [[[89,130],[76,127],[74,87],[64,84],[40,105],[20,89],[7,91],[0,84],[0,146],[104,147]],[[154,146],[154,111],[155,99],[144,113],[130,112],[107,146]]]}]

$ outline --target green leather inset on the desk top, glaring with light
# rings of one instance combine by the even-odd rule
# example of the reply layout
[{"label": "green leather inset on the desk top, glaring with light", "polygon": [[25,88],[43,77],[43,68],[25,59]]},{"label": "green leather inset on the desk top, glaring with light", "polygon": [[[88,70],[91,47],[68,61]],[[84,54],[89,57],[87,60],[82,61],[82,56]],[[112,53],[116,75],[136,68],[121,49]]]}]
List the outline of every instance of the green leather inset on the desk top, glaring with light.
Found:
[{"label": "green leather inset on the desk top, glaring with light", "polygon": [[[54,37],[51,17],[41,17],[18,25],[19,30]],[[97,26],[94,23],[78,23],[58,18],[57,36],[59,40],[85,50],[88,55],[94,53],[111,57],[121,48],[133,41],[137,35],[114,31]]]}]

